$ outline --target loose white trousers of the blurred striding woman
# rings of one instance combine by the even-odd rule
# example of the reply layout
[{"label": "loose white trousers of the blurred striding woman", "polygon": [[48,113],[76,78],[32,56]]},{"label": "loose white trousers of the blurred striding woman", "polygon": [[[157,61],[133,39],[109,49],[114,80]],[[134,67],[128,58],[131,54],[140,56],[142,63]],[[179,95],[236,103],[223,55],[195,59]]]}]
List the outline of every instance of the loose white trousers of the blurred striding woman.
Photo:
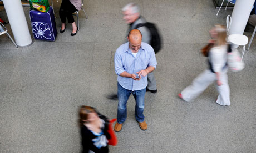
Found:
[{"label": "loose white trousers of the blurred striding woman", "polygon": [[[220,73],[220,81],[222,82],[222,85],[218,86],[216,84],[216,88],[219,92],[218,99],[216,100],[216,103],[225,106],[230,105],[230,90],[228,85],[228,68],[225,68]],[[203,91],[214,81],[216,83],[217,77],[216,74],[211,72],[210,70],[205,70],[203,73],[201,73],[198,77],[196,77],[192,84],[188,87],[186,87],[182,92],[181,95],[185,101],[191,101],[195,99],[197,96],[199,96]]]}]

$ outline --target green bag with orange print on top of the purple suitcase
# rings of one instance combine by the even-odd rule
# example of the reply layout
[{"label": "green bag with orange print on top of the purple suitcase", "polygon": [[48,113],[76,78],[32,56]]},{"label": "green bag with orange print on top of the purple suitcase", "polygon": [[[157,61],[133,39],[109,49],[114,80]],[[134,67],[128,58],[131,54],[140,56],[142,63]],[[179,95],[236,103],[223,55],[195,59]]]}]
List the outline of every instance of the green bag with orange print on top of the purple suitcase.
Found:
[{"label": "green bag with orange print on top of the purple suitcase", "polygon": [[48,0],[29,0],[30,9],[37,10],[40,12],[48,12],[49,2]]}]

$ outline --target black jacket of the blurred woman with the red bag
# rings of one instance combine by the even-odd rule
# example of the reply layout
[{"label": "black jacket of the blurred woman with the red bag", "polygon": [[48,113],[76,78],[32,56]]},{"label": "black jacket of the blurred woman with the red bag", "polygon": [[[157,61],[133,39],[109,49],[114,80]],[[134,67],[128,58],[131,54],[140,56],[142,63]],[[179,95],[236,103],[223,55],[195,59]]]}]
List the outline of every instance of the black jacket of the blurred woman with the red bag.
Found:
[{"label": "black jacket of the blurred woman with the red bag", "polygon": [[[104,129],[103,129],[103,134],[107,137],[107,139],[110,139],[110,135],[107,132],[109,129],[109,121],[107,120],[106,116],[101,115],[98,113],[98,116],[105,121],[104,124]],[[94,139],[95,136],[90,130],[87,129],[85,125],[81,127],[81,135],[82,135],[82,146],[83,146],[83,153],[87,153],[89,150],[95,152],[95,153],[105,153],[109,152],[108,146],[106,147],[101,147],[98,149],[95,145],[93,145],[92,139]]]}]

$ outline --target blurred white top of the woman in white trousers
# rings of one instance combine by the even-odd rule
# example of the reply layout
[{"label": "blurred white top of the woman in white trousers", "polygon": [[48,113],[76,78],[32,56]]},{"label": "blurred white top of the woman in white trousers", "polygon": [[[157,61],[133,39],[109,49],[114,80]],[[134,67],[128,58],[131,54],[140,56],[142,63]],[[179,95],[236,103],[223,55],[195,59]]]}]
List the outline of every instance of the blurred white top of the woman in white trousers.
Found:
[{"label": "blurred white top of the woman in white trousers", "polygon": [[210,50],[209,60],[214,72],[221,72],[228,60],[228,45],[220,45]]}]

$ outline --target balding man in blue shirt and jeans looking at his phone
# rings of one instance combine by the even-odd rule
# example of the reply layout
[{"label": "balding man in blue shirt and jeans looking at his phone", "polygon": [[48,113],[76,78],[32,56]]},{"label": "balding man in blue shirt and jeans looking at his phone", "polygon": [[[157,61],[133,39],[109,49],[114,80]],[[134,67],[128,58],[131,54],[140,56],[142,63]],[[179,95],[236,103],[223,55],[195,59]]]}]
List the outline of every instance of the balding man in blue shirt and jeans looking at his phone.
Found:
[{"label": "balding man in blue shirt and jeans looking at his phone", "polygon": [[132,94],[135,98],[135,118],[142,130],[147,129],[144,99],[147,87],[147,74],[155,70],[156,58],[151,45],[141,42],[140,30],[133,29],[127,37],[128,42],[116,49],[115,72],[117,74],[118,110],[114,130],[119,132],[126,120],[126,103]]}]

